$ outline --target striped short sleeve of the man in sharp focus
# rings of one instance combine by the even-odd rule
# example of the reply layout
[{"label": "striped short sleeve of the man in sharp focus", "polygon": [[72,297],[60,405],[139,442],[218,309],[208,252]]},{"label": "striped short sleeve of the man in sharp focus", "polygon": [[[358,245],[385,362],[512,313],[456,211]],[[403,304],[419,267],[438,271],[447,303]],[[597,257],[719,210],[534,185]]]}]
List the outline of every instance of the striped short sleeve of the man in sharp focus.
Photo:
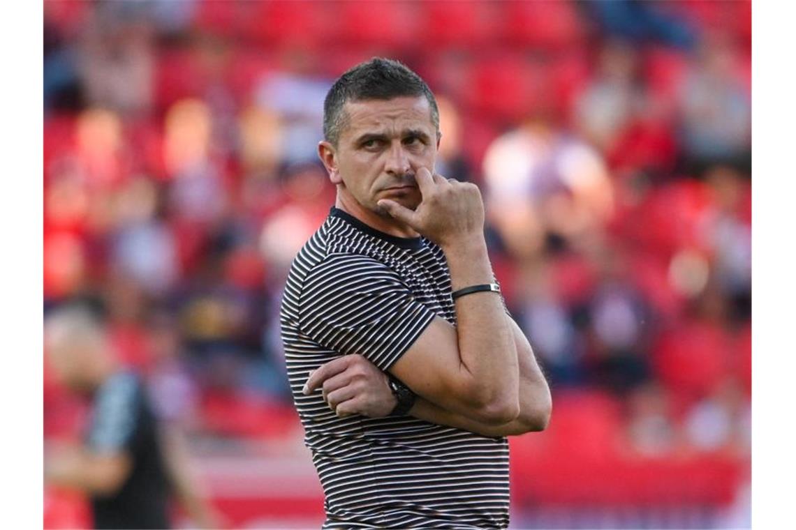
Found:
[{"label": "striped short sleeve of the man in sharp focus", "polygon": [[340,354],[361,354],[387,370],[423,333],[435,312],[421,304],[384,263],[333,254],[315,265],[302,288],[302,333]]}]

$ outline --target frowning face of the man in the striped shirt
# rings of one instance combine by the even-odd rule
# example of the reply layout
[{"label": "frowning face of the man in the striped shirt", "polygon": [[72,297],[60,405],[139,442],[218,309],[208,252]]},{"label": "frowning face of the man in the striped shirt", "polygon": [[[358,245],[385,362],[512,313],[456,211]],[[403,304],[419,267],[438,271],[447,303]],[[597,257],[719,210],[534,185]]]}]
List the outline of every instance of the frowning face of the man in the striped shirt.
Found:
[{"label": "frowning face of the man in the striped shirt", "polygon": [[337,147],[326,142],[321,147],[341,198],[385,216],[380,199],[414,210],[421,200],[416,172],[423,167],[434,172],[439,146],[428,100],[421,95],[349,101],[344,112]]}]

